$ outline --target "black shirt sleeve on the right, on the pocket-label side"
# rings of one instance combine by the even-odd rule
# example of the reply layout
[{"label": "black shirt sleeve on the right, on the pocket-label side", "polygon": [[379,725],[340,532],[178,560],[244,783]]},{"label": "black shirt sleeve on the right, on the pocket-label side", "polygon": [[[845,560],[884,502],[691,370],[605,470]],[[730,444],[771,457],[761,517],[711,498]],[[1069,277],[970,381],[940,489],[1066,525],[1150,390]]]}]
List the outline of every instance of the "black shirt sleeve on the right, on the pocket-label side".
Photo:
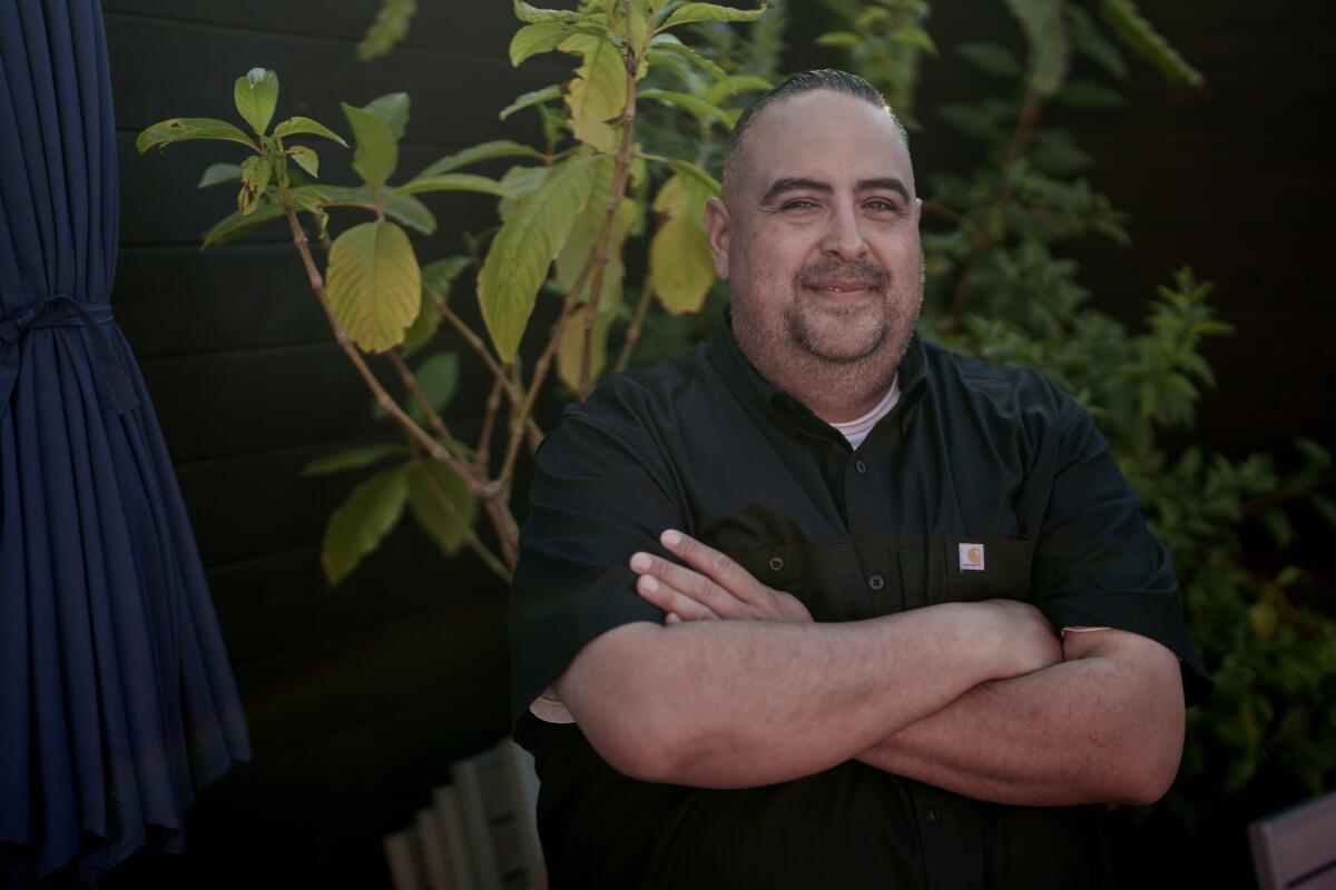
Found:
[{"label": "black shirt sleeve on the right, on the pocket-label side", "polygon": [[1114,627],[1178,655],[1188,703],[1210,681],[1192,643],[1165,546],[1146,527],[1090,415],[1070,404],[1034,554],[1035,604],[1054,627]]}]

